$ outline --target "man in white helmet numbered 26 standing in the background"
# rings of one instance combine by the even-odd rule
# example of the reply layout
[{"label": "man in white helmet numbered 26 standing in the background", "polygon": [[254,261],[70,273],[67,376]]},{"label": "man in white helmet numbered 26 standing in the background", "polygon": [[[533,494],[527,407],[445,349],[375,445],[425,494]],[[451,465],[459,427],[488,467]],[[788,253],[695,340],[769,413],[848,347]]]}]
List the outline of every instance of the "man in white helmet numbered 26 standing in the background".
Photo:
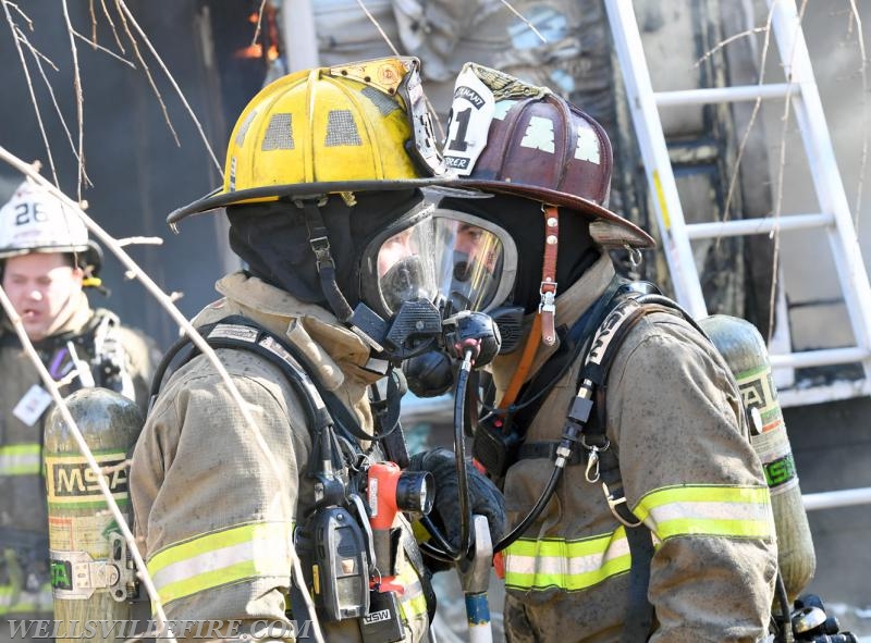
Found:
[{"label": "man in white helmet numbered 26 standing in the background", "polygon": [[[61,394],[103,386],[145,408],[152,344],[90,307],[84,288],[100,287],[101,250],[78,217],[25,181],[0,209],[0,262],[3,290]],[[0,614],[51,618],[41,473],[51,397],[5,316],[0,372]]]}]

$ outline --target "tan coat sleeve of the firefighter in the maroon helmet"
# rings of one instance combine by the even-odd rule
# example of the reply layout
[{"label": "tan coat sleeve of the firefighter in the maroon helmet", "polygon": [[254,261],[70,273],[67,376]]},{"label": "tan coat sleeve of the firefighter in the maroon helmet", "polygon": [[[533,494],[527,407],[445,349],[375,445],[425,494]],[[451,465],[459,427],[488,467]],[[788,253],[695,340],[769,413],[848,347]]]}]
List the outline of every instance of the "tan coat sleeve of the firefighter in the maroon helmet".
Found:
[{"label": "tan coat sleeve of the firefighter in the maroon helmet", "polygon": [[648,320],[615,362],[608,409],[627,503],[654,534],[649,598],[659,629],[650,641],[757,641],[776,544],[739,394],[683,320]]}]

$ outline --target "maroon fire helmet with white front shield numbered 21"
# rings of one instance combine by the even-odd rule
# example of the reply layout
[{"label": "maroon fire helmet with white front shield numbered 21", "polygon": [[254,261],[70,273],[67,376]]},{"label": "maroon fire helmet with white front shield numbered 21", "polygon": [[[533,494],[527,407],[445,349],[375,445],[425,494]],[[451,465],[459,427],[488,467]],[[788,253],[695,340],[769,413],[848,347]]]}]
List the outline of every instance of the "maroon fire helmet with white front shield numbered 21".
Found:
[{"label": "maroon fire helmet with white front shield numbered 21", "polygon": [[654,245],[606,208],[612,151],[602,126],[544,87],[466,63],[454,88],[444,163],[457,175],[447,185],[576,210],[612,224],[613,245]]}]

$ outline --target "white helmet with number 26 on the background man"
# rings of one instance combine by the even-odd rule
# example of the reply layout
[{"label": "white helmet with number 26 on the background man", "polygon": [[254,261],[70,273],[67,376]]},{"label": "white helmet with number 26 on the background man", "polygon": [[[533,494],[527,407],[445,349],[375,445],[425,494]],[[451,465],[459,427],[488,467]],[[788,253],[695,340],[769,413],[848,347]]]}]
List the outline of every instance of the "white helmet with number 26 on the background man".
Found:
[{"label": "white helmet with number 26 on the background man", "polygon": [[0,258],[86,250],[90,250],[88,231],[78,215],[29,181],[0,208]]}]

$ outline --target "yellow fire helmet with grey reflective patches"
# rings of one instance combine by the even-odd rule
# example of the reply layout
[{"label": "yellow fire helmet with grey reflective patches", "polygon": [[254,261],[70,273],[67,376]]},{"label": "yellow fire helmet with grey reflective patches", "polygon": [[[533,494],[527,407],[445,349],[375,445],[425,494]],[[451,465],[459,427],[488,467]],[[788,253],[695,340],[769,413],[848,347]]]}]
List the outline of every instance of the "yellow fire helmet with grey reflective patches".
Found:
[{"label": "yellow fire helmet with grey reflective patches", "polygon": [[255,96],[228,146],[223,187],[173,225],[243,202],[424,187],[443,172],[419,61],[383,58],[289,74]]}]

